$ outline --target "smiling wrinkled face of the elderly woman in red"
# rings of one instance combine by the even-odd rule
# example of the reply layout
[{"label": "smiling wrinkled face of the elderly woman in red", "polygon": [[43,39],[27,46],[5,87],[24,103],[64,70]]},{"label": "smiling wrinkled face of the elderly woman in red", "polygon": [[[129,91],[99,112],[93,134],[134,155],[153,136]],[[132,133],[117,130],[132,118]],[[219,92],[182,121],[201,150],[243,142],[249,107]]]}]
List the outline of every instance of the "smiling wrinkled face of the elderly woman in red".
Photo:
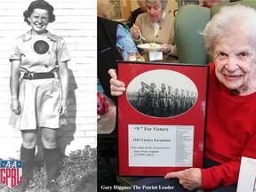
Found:
[{"label": "smiling wrinkled face of the elderly woman in red", "polygon": [[213,48],[215,73],[229,90],[240,95],[256,92],[256,54],[243,34],[221,36]]}]

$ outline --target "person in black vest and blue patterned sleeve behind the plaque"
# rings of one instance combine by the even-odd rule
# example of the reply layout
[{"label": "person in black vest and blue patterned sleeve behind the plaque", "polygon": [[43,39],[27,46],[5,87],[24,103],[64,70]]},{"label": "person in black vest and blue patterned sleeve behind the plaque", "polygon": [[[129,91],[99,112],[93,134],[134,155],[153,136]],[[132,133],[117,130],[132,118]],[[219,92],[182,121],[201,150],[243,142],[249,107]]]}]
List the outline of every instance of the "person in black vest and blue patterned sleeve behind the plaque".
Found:
[{"label": "person in black vest and blue patterned sleeve behind the plaque", "polygon": [[117,68],[116,60],[140,60],[140,52],[132,41],[129,31],[124,24],[114,20],[114,6],[108,0],[97,2],[97,36],[98,36],[98,65],[97,76],[104,93],[114,101],[109,92],[108,70]]}]

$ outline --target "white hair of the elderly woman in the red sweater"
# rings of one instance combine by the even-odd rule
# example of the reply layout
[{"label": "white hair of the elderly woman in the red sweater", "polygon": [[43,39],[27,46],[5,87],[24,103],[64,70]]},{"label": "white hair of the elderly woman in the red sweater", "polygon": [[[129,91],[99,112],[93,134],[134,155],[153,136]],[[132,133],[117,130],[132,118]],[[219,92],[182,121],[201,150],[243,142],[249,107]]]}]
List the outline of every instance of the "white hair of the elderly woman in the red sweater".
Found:
[{"label": "white hair of the elderly woman in the red sweater", "polygon": [[249,6],[236,4],[225,6],[220,12],[212,17],[207,23],[204,31],[204,47],[206,52],[212,54],[214,45],[220,37],[233,32],[239,32],[247,36],[252,46],[256,50],[256,10]]}]

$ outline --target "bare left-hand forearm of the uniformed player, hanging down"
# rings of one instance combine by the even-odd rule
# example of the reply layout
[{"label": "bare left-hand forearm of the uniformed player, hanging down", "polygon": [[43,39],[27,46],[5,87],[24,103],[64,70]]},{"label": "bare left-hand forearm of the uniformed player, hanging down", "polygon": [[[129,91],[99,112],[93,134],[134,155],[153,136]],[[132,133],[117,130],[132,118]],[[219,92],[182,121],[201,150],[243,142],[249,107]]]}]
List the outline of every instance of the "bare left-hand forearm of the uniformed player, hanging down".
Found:
[{"label": "bare left-hand forearm of the uniformed player, hanging down", "polygon": [[11,109],[16,115],[20,115],[19,77],[20,77],[20,60],[12,60],[11,78],[10,78]]}]

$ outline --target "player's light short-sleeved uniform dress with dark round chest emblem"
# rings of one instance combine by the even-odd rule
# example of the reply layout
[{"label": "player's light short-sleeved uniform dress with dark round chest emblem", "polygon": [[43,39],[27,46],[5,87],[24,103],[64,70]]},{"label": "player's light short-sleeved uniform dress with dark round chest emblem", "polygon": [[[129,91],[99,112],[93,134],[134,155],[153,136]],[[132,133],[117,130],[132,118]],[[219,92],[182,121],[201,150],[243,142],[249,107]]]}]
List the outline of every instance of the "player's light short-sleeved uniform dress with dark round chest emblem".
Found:
[{"label": "player's light short-sleeved uniform dress with dark round chest emblem", "polygon": [[37,127],[60,127],[58,112],[61,99],[60,80],[55,78],[23,79],[26,72],[46,73],[58,69],[58,63],[70,60],[62,38],[46,32],[44,38],[32,36],[29,30],[13,45],[10,61],[20,60],[20,115],[15,116],[14,128],[35,130]]}]

